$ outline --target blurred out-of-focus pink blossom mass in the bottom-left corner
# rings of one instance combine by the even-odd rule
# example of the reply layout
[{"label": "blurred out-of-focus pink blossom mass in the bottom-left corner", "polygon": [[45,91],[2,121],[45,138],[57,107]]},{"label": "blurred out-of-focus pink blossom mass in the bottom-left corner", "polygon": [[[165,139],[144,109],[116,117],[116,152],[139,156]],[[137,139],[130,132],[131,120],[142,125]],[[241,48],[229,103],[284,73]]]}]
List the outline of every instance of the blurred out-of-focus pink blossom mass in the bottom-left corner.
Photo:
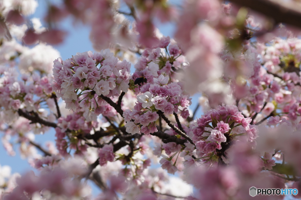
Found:
[{"label": "blurred out-of-focus pink blossom mass in the bottom-left corner", "polygon": [[[78,177],[85,171],[84,165],[74,162],[64,167],[45,167],[42,173],[36,176],[33,171],[23,174],[22,177],[17,177],[14,180],[15,188],[12,192],[3,196],[3,199],[41,199],[41,196],[53,196],[56,198],[74,198],[74,197],[89,197],[91,188],[88,185],[80,184],[79,180],[73,179],[73,176]],[[69,168],[69,169],[68,169]],[[45,182],[45,180],[48,180]]]}]

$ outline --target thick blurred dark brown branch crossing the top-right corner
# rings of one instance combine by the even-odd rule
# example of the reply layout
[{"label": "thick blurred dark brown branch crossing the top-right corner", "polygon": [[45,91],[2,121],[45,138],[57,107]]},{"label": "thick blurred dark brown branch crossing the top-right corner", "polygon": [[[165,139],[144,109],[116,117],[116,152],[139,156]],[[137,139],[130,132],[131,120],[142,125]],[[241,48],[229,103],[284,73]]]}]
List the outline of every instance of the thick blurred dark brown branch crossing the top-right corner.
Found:
[{"label": "thick blurred dark brown branch crossing the top-right corner", "polygon": [[273,0],[231,0],[271,17],[275,23],[286,23],[301,28],[301,6],[297,3]]}]

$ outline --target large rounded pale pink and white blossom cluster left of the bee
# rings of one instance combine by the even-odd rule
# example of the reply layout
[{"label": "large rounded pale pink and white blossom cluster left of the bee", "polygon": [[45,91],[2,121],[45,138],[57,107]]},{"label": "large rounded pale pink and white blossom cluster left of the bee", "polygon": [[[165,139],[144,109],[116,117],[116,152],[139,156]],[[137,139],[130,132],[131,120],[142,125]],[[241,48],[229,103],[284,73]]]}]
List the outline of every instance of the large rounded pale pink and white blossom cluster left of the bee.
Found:
[{"label": "large rounded pale pink and white blossom cluster left of the bee", "polygon": [[105,111],[101,98],[114,98],[129,88],[130,64],[119,61],[109,49],[100,53],[78,53],[73,58],[54,61],[53,90],[66,102],[66,108],[85,111],[92,121]]}]

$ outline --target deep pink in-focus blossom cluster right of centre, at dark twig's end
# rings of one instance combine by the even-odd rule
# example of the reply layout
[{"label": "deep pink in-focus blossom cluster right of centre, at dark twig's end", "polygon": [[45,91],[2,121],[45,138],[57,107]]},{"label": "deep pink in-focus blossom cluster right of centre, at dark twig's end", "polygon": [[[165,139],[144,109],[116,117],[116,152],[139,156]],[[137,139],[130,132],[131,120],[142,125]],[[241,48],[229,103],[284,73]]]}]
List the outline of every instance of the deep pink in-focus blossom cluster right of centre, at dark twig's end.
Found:
[{"label": "deep pink in-focus blossom cluster right of centre, at dark twig's end", "polygon": [[214,164],[218,159],[228,163],[225,151],[233,141],[247,139],[255,142],[257,129],[250,124],[251,121],[234,105],[218,106],[202,115],[191,125],[198,158],[210,160],[208,164]]}]

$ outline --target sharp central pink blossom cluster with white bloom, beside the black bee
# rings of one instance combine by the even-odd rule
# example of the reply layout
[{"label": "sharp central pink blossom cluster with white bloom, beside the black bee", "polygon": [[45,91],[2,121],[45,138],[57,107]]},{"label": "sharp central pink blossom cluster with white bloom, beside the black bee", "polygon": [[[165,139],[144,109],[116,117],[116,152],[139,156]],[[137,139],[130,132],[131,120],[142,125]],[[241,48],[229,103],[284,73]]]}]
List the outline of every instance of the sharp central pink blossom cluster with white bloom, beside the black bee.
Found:
[{"label": "sharp central pink blossom cluster with white bloom, beside the black bee", "polygon": [[[143,77],[147,83],[138,84],[137,101],[134,109],[123,113],[128,133],[150,134],[157,131],[155,125],[158,111],[165,114],[189,115],[189,95],[185,95],[183,85],[173,82],[177,71],[183,67],[181,50],[178,45],[169,45],[169,37],[162,37],[159,47],[147,48],[135,65],[133,80]],[[167,50],[168,47],[168,50]]]}]

